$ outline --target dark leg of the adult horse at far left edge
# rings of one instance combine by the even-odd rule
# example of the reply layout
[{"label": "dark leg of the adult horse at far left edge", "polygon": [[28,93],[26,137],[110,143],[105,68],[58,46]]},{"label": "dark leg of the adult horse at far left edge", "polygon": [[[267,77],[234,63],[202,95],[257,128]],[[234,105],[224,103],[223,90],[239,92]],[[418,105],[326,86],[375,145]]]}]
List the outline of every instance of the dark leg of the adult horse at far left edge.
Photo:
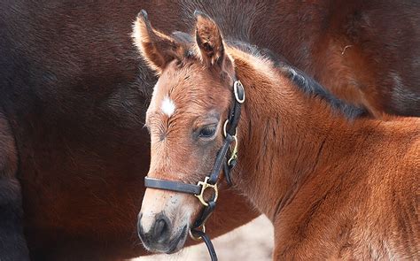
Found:
[{"label": "dark leg of the adult horse at far left edge", "polygon": [[23,234],[17,151],[12,131],[0,111],[0,260],[29,260]]}]

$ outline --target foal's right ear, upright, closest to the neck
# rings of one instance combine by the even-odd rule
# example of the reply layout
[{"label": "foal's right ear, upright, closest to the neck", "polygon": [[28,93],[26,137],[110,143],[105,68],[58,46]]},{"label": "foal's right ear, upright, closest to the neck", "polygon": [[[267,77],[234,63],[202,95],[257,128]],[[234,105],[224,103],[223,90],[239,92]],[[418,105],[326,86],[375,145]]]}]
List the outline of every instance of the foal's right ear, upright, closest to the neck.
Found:
[{"label": "foal's right ear, upright, closest to the neck", "polygon": [[194,12],[197,19],[196,41],[201,58],[207,65],[222,65],[225,59],[224,44],[219,27],[203,12]]}]

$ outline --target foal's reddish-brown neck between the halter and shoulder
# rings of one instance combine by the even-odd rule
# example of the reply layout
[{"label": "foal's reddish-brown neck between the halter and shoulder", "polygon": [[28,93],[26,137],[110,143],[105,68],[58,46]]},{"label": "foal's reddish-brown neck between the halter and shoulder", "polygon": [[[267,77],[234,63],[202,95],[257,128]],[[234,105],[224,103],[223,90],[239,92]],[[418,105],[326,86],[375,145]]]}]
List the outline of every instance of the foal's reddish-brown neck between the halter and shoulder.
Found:
[{"label": "foal's reddish-brown neck between the halter and shoulder", "polygon": [[[354,145],[346,140],[352,135],[348,129],[356,123],[319,98],[308,97],[268,61],[242,54],[233,57],[246,93],[234,182],[273,220],[299,188],[325,167],[326,158],[338,160],[351,153]],[[331,148],[344,142],[345,150],[325,155],[327,144]]]}]

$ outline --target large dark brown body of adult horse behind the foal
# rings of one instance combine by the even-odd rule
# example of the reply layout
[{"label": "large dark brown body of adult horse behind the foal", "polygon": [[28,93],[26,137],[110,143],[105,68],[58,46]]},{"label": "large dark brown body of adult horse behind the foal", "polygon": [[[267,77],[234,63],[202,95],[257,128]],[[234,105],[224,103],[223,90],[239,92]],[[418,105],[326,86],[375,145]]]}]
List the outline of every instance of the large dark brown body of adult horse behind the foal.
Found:
[{"label": "large dark brown body of adult horse behind the foal", "polygon": [[[418,97],[418,4],[347,2],[333,1],[338,12],[329,1],[2,1],[2,260],[17,259],[13,253],[27,255],[21,220],[16,218],[22,217],[17,176],[34,259],[105,260],[144,253],[136,243],[135,226],[149,165],[144,111],[155,78],[144,65],[137,67],[129,37],[130,18],[141,8],[152,13],[154,25],[167,30],[185,29],[195,9],[220,15],[232,40],[249,38],[283,53],[327,87],[355,93],[366,89],[363,97],[351,97],[377,108],[371,111],[418,115],[418,106],[400,110],[393,104],[413,104]],[[382,34],[391,15],[401,15],[392,24],[396,34]],[[332,20],[331,25],[343,27],[329,27]],[[316,51],[325,41],[331,52]],[[331,53],[338,59],[327,63]],[[397,100],[388,91],[395,86],[402,89]],[[386,91],[377,96],[371,88]],[[366,100],[381,105],[370,106]],[[231,212],[219,217],[222,226],[212,226],[214,234],[253,217],[235,194],[229,198],[231,202],[218,208]]]}]

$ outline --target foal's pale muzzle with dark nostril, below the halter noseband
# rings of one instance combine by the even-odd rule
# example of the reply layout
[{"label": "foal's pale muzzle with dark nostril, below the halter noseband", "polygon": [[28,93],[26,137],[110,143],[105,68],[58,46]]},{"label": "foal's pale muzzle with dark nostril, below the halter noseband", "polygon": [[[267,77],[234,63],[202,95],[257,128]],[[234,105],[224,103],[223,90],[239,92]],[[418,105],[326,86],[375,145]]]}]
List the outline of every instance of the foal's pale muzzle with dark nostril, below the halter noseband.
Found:
[{"label": "foal's pale muzzle with dark nostril, below the halter noseband", "polygon": [[189,196],[147,188],[137,223],[144,248],[167,254],[182,249],[194,216],[192,205]]}]

